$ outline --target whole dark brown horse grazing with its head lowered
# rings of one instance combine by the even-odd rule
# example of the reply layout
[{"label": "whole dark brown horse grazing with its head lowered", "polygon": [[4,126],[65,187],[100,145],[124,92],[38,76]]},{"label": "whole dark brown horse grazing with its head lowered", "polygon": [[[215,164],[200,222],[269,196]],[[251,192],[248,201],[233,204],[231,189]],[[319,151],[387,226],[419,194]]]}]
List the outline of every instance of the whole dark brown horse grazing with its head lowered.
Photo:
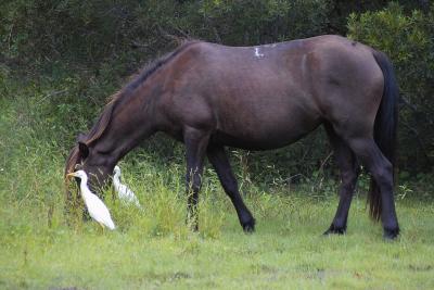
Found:
[{"label": "whole dark brown horse grazing with its head lowered", "polygon": [[[125,154],[156,131],[183,142],[194,227],[205,156],[244,230],[245,206],[225,147],[269,150],[323,124],[341,169],[340,203],[326,234],[346,230],[359,162],[372,176],[370,214],[384,237],[399,234],[393,193],[398,90],[382,52],[339,36],[257,47],[187,42],[123,88],[67,160],[105,181]],[[71,199],[71,196],[69,196]]]}]

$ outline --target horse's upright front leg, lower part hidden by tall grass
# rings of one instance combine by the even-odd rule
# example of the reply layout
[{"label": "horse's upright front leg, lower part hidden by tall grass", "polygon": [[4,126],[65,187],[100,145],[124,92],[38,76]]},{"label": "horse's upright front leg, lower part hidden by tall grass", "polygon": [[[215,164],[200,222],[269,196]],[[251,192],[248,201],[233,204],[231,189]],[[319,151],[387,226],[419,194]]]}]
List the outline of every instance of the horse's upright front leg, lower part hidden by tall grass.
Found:
[{"label": "horse's upright front leg, lower part hidden by tall grass", "polygon": [[203,162],[208,146],[209,134],[188,127],[183,136],[186,144],[187,174],[186,190],[188,194],[187,222],[193,230],[197,230],[197,201],[202,185]]}]

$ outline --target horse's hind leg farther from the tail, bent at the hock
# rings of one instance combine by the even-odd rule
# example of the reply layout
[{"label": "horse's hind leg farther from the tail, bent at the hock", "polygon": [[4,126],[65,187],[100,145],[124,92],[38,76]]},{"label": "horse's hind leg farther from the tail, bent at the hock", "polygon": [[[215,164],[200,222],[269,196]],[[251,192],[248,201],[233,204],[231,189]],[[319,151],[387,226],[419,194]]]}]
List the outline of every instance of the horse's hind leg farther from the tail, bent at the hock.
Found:
[{"label": "horse's hind leg farther from the tail, bent at the hock", "polygon": [[348,211],[353,200],[353,193],[359,175],[357,160],[349,147],[334,133],[333,128],[326,125],[326,130],[332,144],[334,156],[341,172],[341,186],[339,189],[340,202],[336,214],[330,228],[324,232],[345,234],[348,218]]}]

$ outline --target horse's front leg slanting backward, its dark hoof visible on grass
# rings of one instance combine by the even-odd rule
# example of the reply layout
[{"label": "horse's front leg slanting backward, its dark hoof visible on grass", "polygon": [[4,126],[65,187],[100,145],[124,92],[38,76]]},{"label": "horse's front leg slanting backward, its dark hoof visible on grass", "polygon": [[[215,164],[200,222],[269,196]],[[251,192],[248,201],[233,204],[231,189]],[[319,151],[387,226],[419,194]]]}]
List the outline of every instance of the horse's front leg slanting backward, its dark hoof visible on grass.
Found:
[{"label": "horse's front leg slanting backward, its dark hoof visible on grass", "polygon": [[224,147],[209,146],[207,149],[208,160],[213,164],[217,173],[220,184],[225,189],[226,194],[231,199],[235,207],[240,224],[244,231],[250,232],[255,230],[255,219],[251,212],[245,206],[243,199],[238,190],[238,182],[233,176],[228,156]]}]

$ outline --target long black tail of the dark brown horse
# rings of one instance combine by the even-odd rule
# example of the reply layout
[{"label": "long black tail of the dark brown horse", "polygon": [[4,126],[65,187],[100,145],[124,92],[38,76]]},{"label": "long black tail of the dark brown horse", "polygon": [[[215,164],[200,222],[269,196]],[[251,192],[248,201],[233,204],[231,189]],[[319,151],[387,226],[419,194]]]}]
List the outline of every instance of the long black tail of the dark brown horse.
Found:
[{"label": "long black tail of the dark brown horse", "polygon": [[[392,163],[395,172],[396,157],[396,130],[398,125],[398,97],[399,89],[396,83],[392,62],[381,51],[373,50],[372,54],[384,76],[383,97],[374,123],[374,140],[383,155]],[[394,177],[395,179],[395,177]],[[379,220],[381,217],[380,188],[371,178],[371,188],[368,196],[369,213],[371,217]]]}]

